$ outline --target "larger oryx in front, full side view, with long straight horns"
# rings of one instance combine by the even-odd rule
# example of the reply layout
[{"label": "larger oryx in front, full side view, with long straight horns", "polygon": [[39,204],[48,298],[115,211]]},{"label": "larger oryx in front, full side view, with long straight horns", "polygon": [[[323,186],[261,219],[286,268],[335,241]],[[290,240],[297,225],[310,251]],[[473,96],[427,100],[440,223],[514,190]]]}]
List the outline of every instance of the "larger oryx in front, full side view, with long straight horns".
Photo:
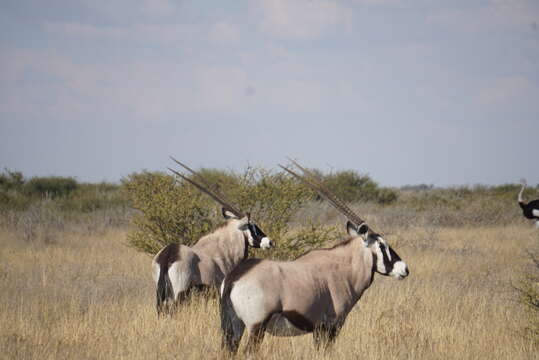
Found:
[{"label": "larger oryx in front, full side view, with long straight horns", "polygon": [[257,349],[265,332],[276,336],[313,333],[315,347],[326,348],[371,285],[375,272],[398,279],[409,274],[407,265],[382,236],[308,170],[301,168],[302,177],[284,169],[347,217],[349,237],[293,261],[248,259],[228,274],[221,285],[220,312],[222,347],[232,353],[245,328],[247,352]]}]

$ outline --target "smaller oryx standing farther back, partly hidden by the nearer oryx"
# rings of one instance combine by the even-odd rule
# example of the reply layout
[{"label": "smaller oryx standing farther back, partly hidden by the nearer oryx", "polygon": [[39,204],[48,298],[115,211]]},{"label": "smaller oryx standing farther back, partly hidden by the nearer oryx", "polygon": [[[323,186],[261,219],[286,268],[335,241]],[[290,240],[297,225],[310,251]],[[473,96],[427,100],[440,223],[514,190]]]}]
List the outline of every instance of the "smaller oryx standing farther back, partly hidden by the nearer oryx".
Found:
[{"label": "smaller oryx standing farther back, partly hidden by the nearer oryx", "polygon": [[[199,174],[173,160],[207,185]],[[226,222],[191,247],[170,244],[154,257],[152,268],[157,286],[158,314],[172,309],[193,288],[218,287],[225,275],[247,258],[249,246],[263,249],[273,246],[273,242],[251,220],[249,214],[243,214],[225,201],[222,195],[209,190],[208,185],[204,187],[177,171],[169,170],[221,204]]]}]

